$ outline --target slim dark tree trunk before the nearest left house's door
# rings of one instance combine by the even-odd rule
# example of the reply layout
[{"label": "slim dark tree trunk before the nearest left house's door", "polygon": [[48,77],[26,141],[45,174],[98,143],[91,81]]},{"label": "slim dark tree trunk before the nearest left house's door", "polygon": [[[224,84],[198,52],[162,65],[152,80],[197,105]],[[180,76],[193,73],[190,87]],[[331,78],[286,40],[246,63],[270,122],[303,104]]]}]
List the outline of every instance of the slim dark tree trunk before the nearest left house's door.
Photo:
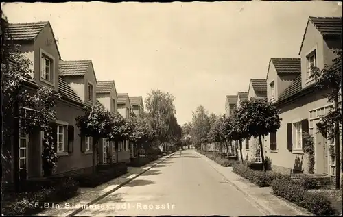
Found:
[{"label": "slim dark tree trunk before the nearest left house's door", "polygon": [[14,188],[19,192],[19,137],[20,137],[20,116],[18,101],[14,102],[14,129],[13,129],[13,151],[14,151]]}]

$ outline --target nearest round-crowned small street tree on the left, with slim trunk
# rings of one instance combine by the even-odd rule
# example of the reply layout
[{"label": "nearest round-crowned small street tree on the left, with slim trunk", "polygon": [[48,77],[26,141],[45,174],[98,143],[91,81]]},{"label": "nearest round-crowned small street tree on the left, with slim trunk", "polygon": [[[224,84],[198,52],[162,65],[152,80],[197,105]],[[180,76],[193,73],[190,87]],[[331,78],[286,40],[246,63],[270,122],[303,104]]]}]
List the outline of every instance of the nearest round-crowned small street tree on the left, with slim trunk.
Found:
[{"label": "nearest round-crowned small street tree on the left, with slim trunk", "polygon": [[75,120],[76,126],[80,129],[80,136],[93,138],[93,171],[95,171],[99,161],[99,153],[96,151],[99,139],[108,138],[115,127],[112,114],[104,106],[93,104],[91,107],[84,107],[84,115],[78,116]]}]

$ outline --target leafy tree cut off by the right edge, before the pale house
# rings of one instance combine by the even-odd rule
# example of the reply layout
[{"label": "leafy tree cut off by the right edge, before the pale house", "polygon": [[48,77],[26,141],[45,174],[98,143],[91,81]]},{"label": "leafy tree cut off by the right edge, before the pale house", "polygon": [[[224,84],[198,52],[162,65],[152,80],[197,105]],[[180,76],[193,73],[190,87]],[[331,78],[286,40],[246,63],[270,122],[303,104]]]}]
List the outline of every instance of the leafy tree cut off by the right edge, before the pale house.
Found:
[{"label": "leafy tree cut off by the right edge, before the pale house", "polygon": [[[323,69],[311,66],[310,78],[316,81],[318,90],[329,90],[325,95],[333,103],[333,110],[320,116],[318,128],[327,134],[329,140],[335,140],[335,188],[340,189],[340,123],[342,123],[342,49],[334,49],[332,64]],[[342,155],[343,158],[343,155]],[[342,166],[343,169],[343,166]]]}]

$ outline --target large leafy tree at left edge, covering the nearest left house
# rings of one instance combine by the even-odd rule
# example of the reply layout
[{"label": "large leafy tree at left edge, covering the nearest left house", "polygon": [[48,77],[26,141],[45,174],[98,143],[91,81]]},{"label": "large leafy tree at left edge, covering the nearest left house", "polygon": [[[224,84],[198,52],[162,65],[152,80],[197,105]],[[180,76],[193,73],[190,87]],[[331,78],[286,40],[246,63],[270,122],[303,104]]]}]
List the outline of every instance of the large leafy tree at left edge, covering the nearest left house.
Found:
[{"label": "large leafy tree at left edge, covering the nearest left house", "polygon": [[[3,14],[1,10],[1,15]],[[56,120],[53,110],[60,94],[51,88],[38,86],[32,79],[32,62],[25,56],[20,45],[15,44],[8,31],[7,18],[1,16],[1,87],[3,112],[2,144],[8,150],[13,150],[14,170],[19,170],[19,133],[27,134],[43,131],[43,171],[45,176],[51,175],[56,167],[57,157],[54,150],[55,140],[52,137],[51,122]],[[34,93],[27,92],[28,87],[34,88]],[[13,145],[13,149],[12,149]],[[3,150],[4,159],[11,156]],[[26,169],[21,173],[26,177]],[[16,190],[19,190],[19,173],[14,173]]]}]

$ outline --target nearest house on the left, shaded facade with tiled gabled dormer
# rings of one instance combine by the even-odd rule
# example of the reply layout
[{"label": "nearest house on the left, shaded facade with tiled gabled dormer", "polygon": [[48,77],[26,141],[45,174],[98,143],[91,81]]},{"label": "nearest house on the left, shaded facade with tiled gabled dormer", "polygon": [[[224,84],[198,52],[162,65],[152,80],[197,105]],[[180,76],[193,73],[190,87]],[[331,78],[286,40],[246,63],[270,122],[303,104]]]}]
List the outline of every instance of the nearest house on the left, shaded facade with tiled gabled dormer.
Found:
[{"label": "nearest house on the left, shaded facade with tiled gabled dormer", "polygon": [[[91,169],[91,144],[86,148],[82,138],[78,136],[80,131],[75,126],[75,118],[84,114],[83,107],[87,103],[80,97],[80,92],[77,92],[81,91],[81,88],[74,89],[66,77],[61,75],[62,60],[50,23],[10,24],[9,33],[14,43],[20,45],[23,55],[32,61],[32,80],[29,81],[31,85],[26,87],[27,90],[35,92],[39,86],[47,86],[62,96],[54,107],[57,118],[52,125],[56,133],[55,149],[58,155],[58,166],[54,174],[82,173]],[[29,110],[25,107],[21,109]],[[3,151],[3,165],[8,168],[8,173],[3,176],[3,183],[13,183],[15,173],[19,173],[23,168],[27,170],[28,179],[43,176],[42,136],[43,133],[39,131],[30,135],[21,132],[19,144],[11,144],[7,151]],[[14,157],[14,146],[19,146],[19,159]],[[4,159],[4,156],[9,158]],[[19,161],[19,168],[15,168],[14,160]]]}]

